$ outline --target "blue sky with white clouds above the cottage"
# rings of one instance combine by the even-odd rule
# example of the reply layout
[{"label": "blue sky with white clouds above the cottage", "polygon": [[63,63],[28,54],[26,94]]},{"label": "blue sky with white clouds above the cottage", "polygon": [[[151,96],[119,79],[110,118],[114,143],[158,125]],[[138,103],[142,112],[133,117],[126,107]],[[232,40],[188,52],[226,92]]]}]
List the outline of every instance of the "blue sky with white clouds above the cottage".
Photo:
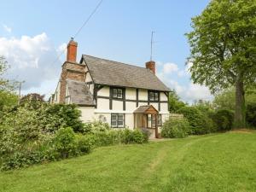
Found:
[{"label": "blue sky with white clouds above the cottage", "polygon": [[[60,77],[56,56],[95,9],[96,0],[3,1],[0,12],[0,55],[9,61],[8,77],[25,80],[22,93],[49,96]],[[144,67],[150,56],[154,31],[153,59],[157,73],[184,101],[209,99],[205,87],[192,84],[185,62],[191,17],[199,15],[209,0],[103,0],[79,36],[81,54],[95,55]],[[55,62],[53,62],[55,61]]]}]

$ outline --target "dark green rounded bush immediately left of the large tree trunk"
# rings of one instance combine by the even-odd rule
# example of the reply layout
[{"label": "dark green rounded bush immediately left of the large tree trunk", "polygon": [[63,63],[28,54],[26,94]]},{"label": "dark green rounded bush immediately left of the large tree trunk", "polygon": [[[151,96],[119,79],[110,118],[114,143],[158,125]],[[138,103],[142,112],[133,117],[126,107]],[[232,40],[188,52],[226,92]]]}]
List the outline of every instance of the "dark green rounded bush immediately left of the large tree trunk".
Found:
[{"label": "dark green rounded bush immediately left of the large tree trunk", "polygon": [[212,119],[218,131],[229,131],[233,125],[234,113],[227,109],[218,110],[212,114]]}]

